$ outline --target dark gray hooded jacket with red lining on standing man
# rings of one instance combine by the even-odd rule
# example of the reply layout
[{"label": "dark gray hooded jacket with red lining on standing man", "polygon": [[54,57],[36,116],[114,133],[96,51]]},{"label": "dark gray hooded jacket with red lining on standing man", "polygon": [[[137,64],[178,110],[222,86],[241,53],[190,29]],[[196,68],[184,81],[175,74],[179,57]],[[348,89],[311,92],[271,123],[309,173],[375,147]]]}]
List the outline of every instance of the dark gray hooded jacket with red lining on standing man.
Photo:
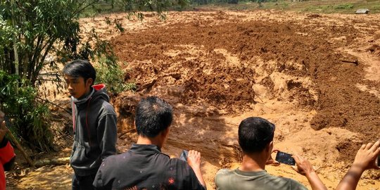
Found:
[{"label": "dark gray hooded jacket with red lining on standing man", "polygon": [[84,99],[71,100],[74,144],[70,165],[76,175],[93,175],[101,161],[116,152],[116,113],[104,84],[94,85]]}]

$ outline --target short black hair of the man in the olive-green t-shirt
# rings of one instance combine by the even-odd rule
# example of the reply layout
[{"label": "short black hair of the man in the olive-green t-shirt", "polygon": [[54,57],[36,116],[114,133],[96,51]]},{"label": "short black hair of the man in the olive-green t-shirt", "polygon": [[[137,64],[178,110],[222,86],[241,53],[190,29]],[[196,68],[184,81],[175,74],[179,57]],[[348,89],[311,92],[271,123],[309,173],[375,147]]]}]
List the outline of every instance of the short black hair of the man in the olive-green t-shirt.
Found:
[{"label": "short black hair of the man in the olive-green t-shirt", "polygon": [[275,126],[264,118],[251,117],[239,125],[239,145],[245,153],[259,153],[273,141]]}]

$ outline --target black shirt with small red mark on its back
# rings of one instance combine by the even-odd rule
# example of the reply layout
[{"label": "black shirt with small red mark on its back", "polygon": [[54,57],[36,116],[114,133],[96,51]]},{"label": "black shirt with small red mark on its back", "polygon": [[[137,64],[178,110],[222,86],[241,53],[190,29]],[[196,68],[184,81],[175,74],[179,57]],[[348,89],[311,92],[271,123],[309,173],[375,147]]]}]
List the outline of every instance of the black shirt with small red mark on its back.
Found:
[{"label": "black shirt with small red mark on its back", "polygon": [[96,189],[204,189],[191,167],[170,159],[156,145],[133,144],[126,153],[103,160]]}]

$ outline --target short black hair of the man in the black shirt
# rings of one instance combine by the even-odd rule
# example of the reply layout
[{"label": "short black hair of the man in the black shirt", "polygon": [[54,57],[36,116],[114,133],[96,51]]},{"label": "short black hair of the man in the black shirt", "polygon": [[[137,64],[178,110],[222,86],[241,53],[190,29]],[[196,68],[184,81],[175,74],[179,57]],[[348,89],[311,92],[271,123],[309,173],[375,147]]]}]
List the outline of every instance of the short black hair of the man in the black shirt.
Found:
[{"label": "short black hair of the man in the black shirt", "polygon": [[134,118],[137,134],[156,137],[172,124],[172,112],[172,106],[156,96],[141,99]]}]

